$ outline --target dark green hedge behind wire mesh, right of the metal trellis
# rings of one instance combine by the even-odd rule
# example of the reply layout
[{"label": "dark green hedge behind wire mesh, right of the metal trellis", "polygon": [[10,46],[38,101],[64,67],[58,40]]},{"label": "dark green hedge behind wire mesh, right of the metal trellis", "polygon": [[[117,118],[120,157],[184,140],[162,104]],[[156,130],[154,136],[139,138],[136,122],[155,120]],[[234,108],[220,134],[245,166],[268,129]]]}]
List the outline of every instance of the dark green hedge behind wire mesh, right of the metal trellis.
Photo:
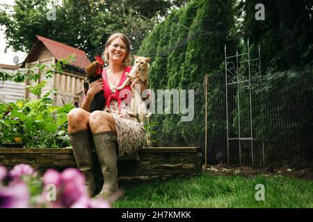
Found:
[{"label": "dark green hedge behind wire mesh, right of the metal trellis", "polygon": [[[257,139],[253,144],[255,156],[265,146],[265,164],[268,167],[313,167],[313,107],[310,102],[313,99],[313,67],[266,74],[259,76],[259,79],[259,84],[250,87],[252,135]],[[238,99],[234,101],[232,127],[238,136],[240,104],[241,137],[250,137],[248,87],[243,88],[241,85],[239,98],[240,103]],[[233,145],[233,148],[236,150],[239,147]],[[241,148],[249,149],[250,143],[243,142]]]}]

